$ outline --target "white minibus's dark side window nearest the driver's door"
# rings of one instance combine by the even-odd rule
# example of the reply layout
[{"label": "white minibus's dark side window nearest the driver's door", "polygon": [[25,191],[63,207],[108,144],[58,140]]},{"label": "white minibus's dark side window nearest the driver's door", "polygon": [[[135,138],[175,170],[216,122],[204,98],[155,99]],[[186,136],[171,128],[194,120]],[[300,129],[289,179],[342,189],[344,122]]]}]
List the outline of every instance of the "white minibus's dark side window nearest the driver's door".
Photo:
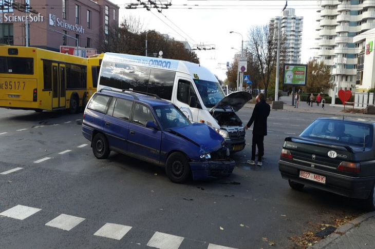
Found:
[{"label": "white minibus's dark side window nearest the driver's door", "polygon": [[163,99],[171,100],[175,75],[176,73],[172,71],[151,69],[147,92],[157,94]]}]

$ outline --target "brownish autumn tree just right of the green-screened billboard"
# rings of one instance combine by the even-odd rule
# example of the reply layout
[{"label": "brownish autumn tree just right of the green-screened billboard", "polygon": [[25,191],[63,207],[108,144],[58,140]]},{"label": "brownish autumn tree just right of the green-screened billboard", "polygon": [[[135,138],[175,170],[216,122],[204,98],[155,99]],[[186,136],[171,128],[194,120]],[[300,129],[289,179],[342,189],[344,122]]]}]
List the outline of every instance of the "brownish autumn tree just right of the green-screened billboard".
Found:
[{"label": "brownish autumn tree just right of the green-screened billboard", "polygon": [[305,92],[324,93],[333,88],[331,69],[323,61],[310,59],[307,64],[307,86]]}]

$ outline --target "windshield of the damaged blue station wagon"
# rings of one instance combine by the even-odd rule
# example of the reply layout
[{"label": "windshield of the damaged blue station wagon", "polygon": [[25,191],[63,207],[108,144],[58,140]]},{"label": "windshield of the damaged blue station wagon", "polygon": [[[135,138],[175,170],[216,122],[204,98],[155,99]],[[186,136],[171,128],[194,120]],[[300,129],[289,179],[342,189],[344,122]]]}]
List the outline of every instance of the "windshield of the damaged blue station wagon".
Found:
[{"label": "windshield of the damaged blue station wagon", "polygon": [[189,126],[190,121],[172,105],[153,107],[164,129]]}]

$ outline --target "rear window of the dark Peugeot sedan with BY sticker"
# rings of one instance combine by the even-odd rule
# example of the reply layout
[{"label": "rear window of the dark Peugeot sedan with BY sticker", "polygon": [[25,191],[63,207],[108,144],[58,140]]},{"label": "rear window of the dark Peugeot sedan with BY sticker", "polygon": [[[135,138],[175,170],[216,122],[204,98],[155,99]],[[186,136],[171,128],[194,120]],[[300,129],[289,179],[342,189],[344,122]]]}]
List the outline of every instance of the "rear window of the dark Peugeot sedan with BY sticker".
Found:
[{"label": "rear window of the dark Peugeot sedan with BY sticker", "polygon": [[318,119],[310,124],[300,136],[355,147],[372,147],[372,126],[365,123]]}]

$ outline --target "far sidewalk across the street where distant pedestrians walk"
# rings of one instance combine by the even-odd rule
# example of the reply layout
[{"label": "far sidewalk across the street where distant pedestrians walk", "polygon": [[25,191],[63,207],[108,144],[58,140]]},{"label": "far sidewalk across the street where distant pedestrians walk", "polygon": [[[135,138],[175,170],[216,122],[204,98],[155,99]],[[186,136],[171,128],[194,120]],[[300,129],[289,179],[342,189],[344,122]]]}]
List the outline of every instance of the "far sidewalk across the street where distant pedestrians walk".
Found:
[{"label": "far sidewalk across the street where distant pedestrians walk", "polygon": [[[363,113],[345,113],[342,112],[344,109],[341,106],[331,106],[330,103],[326,103],[324,110],[322,109],[322,103],[320,106],[316,106],[316,102],[313,103],[312,107],[308,106],[306,101],[300,101],[298,108],[294,108],[292,106],[292,97],[291,96],[283,96],[280,97],[280,101],[284,102],[284,110],[272,110],[272,111],[284,111],[284,112],[297,112],[297,113],[314,113],[314,114],[322,114],[322,115],[330,115],[330,116],[350,116],[350,117],[358,117],[358,118],[375,118],[375,115],[370,114],[363,114]],[[246,103],[245,107],[253,108],[255,106],[254,103]],[[352,109],[353,107],[348,106],[347,109]]]}]

